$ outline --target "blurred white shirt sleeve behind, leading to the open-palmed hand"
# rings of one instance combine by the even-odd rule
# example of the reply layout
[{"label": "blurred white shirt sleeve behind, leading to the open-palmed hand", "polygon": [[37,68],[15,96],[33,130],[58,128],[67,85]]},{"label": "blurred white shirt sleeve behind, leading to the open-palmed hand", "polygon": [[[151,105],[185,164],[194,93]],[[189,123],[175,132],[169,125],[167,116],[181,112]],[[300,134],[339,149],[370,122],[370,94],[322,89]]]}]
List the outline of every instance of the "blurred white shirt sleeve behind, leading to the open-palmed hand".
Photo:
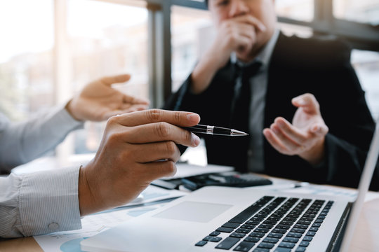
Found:
[{"label": "blurred white shirt sleeve behind, leading to the open-palmed hand", "polygon": [[10,123],[0,113],[0,174],[51,151],[72,130],[83,127],[63,107],[40,113],[22,123]]}]

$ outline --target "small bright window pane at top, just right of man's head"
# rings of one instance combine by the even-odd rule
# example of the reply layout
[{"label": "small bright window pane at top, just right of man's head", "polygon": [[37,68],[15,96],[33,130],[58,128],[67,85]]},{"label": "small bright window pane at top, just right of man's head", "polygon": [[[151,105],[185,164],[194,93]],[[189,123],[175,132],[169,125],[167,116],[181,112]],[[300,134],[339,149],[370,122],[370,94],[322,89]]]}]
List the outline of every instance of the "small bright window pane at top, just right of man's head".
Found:
[{"label": "small bright window pane at top, just right of man's head", "polygon": [[280,0],[275,1],[279,17],[310,22],[314,18],[315,0]]}]

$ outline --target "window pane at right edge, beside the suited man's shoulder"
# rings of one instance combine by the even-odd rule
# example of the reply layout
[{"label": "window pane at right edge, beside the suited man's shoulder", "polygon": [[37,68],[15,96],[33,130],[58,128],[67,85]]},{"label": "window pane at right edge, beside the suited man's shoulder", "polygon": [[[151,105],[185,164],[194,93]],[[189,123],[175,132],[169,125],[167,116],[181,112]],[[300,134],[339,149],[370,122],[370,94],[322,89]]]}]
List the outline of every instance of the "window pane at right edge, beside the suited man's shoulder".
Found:
[{"label": "window pane at right edge, beside the suited man's shoulder", "polygon": [[379,52],[352,51],[352,65],[366,91],[366,101],[373,117],[379,118]]}]

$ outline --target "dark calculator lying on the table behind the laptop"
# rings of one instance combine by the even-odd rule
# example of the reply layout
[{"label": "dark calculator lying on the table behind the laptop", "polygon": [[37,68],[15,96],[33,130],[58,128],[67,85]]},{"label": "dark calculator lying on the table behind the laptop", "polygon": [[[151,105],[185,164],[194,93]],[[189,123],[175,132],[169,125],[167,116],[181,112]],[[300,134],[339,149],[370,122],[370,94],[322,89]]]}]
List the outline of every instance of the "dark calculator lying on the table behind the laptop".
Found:
[{"label": "dark calculator lying on the table behind the laptop", "polygon": [[257,174],[203,174],[183,178],[182,185],[189,190],[197,190],[204,186],[232,186],[232,187],[248,187],[248,186],[265,186],[271,185],[272,181]]}]

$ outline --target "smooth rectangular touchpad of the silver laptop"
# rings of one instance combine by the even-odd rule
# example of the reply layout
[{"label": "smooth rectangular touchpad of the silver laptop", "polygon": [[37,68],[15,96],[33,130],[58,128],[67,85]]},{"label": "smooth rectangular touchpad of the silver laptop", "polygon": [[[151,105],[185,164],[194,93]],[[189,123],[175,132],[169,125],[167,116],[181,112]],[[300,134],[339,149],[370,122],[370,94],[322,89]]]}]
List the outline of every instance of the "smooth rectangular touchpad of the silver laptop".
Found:
[{"label": "smooth rectangular touchpad of the silver laptop", "polygon": [[227,211],[227,209],[230,209],[230,207],[232,207],[232,205],[206,202],[181,202],[152,217],[207,223]]}]

